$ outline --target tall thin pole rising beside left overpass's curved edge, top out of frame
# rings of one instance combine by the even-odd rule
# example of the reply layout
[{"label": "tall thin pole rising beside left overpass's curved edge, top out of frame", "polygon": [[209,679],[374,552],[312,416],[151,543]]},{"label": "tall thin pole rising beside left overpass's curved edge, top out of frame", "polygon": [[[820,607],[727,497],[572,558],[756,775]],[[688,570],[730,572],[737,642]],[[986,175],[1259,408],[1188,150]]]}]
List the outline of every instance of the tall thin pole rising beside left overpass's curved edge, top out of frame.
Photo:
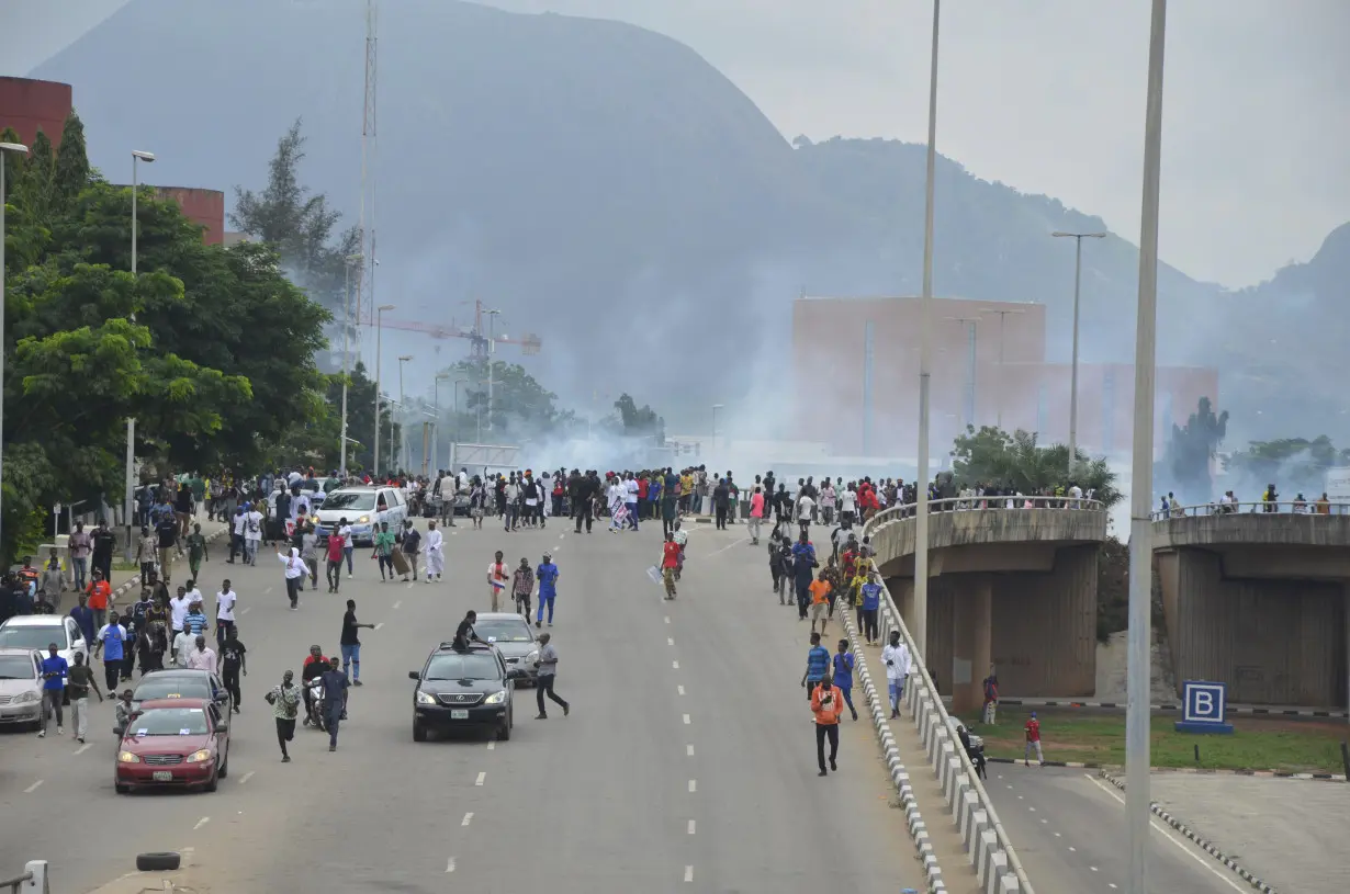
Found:
[{"label": "tall thin pole rising beside left overpass's curved edge, top out of frame", "polygon": [[919,445],[918,484],[914,488],[914,645],[927,654],[927,485],[929,384],[933,348],[929,313],[933,305],[933,178],[937,169],[937,36],[942,0],[933,0],[933,53],[929,70],[929,151],[923,189],[923,294],[919,298]]}]

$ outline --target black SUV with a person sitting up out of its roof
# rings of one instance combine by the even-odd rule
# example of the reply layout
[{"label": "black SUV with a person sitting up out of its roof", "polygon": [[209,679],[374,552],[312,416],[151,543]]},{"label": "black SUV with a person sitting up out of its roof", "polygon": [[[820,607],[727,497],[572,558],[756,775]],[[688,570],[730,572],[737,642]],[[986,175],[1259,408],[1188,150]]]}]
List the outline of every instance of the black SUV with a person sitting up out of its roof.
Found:
[{"label": "black SUV with a person sitting up out of its roof", "polygon": [[491,727],[502,742],[514,723],[513,696],[522,670],[506,669],[501,653],[474,643],[455,650],[441,643],[421,672],[408,672],[417,681],[413,692],[413,742],[425,742],[432,729]]}]

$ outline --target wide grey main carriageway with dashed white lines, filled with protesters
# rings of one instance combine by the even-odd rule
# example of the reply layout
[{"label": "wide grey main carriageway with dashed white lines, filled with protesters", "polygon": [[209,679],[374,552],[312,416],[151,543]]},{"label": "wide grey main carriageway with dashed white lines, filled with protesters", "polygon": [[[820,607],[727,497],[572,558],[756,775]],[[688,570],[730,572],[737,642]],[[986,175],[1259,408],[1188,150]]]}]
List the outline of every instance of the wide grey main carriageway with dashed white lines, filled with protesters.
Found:
[{"label": "wide grey main carriageway with dashed white lines, filled with protesters", "polygon": [[[0,736],[0,872],[53,863],[54,890],[88,891],[147,850],[192,848],[213,890],[751,891],[894,894],[919,887],[903,814],[865,721],[845,720],[840,771],[817,777],[805,692],[807,631],[768,589],[761,549],[698,525],[675,603],[645,569],[659,529],[504,534],[460,525],[450,580],[382,584],[369,553],[343,593],[286,611],[281,564],[213,560],[240,595],[248,647],[230,778],[215,794],[112,790],[112,707],[90,742]],[[562,568],[559,693],[574,709],[535,720],[522,689],[510,742],[414,744],[412,682],[467,608],[486,608],[486,565]],[[213,592],[213,587],[204,592]],[[262,696],[310,643],[336,647],[347,597],[363,631],[362,678],[335,754],[298,729],[282,765]]]}]

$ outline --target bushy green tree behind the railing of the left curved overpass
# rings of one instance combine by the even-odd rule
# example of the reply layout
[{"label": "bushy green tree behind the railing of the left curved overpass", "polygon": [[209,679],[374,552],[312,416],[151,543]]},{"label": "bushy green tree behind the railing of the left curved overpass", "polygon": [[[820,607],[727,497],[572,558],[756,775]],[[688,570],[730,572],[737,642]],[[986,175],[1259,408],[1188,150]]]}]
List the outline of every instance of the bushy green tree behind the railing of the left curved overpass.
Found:
[{"label": "bushy green tree behind the railing of the left curved overpass", "polygon": [[[1069,448],[1062,444],[1041,446],[1034,433],[1008,434],[995,426],[967,426],[952,448],[952,471],[961,487],[987,484],[1011,487],[1022,494],[1040,492],[1050,487],[1068,487]],[[1076,483],[1084,491],[1095,491],[1095,498],[1114,506],[1120,499],[1115,488],[1115,473],[1106,460],[1094,460],[1077,452]]]}]

